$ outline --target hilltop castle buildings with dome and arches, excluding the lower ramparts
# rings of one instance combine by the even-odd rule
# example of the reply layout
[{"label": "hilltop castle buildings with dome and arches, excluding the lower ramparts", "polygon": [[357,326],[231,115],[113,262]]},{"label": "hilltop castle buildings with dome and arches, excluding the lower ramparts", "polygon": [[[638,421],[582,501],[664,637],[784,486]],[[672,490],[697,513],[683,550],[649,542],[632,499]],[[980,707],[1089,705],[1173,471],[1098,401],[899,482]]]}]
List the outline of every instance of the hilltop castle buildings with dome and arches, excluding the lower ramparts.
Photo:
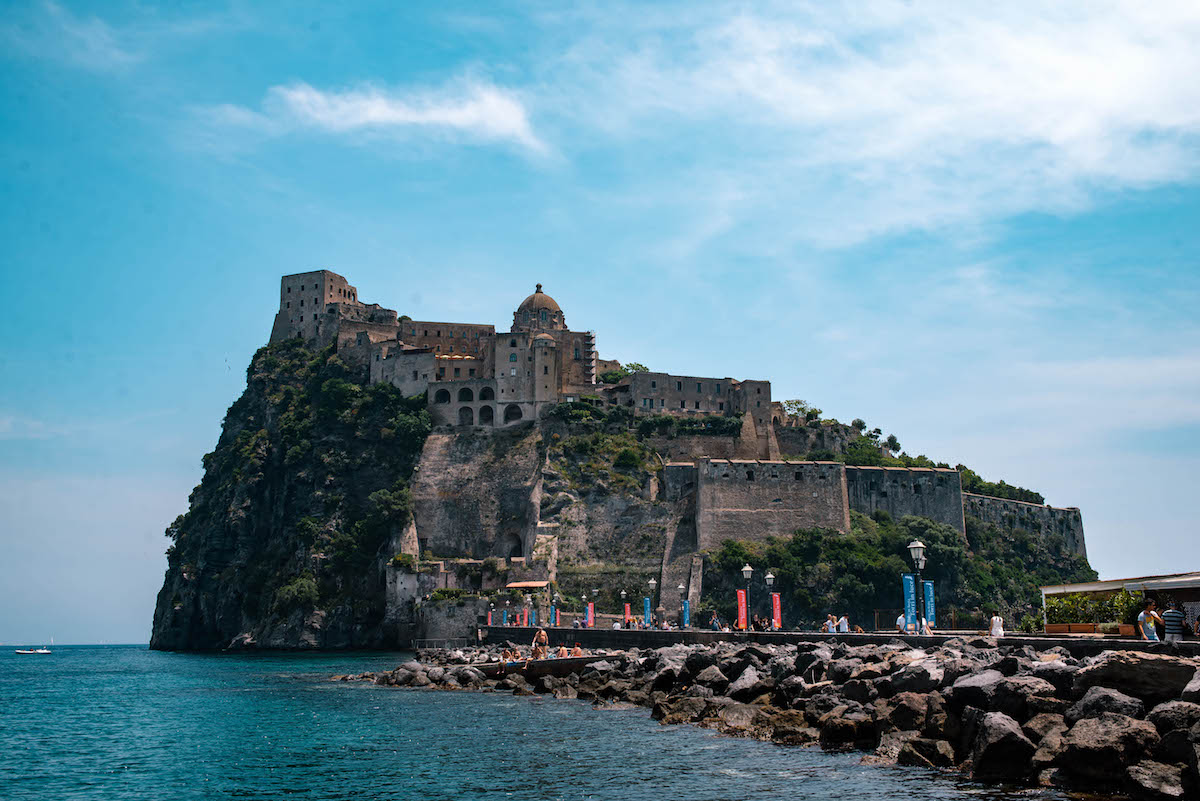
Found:
[{"label": "hilltop castle buildings with dome and arches, excluding the lower ramparts", "polygon": [[553,297],[538,284],[512,313],[506,332],[478,323],[433,323],[397,317],[364,303],[358,289],[329,270],[284,276],[271,342],[292,337],[336,343],[347,361],[366,363],[371,383],[407,396],[428,393],[430,414],[442,426],[514,426],[550,406],[600,396],[607,405],[638,415],[742,416],[755,442],[744,456],[778,458],[770,421],[770,381],[635,373],[616,385],[598,383],[601,369],[593,331],[571,331]]}]

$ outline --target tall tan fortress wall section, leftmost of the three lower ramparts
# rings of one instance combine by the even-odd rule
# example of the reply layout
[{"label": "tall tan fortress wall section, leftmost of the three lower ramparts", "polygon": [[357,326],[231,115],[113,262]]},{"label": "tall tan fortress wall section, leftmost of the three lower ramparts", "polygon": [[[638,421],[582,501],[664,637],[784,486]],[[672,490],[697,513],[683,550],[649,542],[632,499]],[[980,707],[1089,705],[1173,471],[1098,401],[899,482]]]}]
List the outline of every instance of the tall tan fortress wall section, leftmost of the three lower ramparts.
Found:
[{"label": "tall tan fortress wall section, leftmost of the three lower ramparts", "polygon": [[701,459],[696,469],[701,550],[805,528],[850,530],[846,471],[836,462]]}]

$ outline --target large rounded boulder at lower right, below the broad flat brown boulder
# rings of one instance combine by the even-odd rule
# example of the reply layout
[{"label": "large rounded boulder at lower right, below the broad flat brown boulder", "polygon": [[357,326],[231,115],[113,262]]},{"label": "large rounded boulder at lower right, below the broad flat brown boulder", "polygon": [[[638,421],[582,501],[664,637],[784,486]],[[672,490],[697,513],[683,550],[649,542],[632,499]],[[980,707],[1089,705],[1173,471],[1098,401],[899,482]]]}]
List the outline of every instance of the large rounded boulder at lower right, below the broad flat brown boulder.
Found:
[{"label": "large rounded boulder at lower right, below the broad flat brown boulder", "polygon": [[1116,781],[1129,765],[1141,761],[1156,746],[1154,724],[1127,715],[1100,712],[1075,723],[1062,735],[1058,764],[1070,773],[1093,781]]}]

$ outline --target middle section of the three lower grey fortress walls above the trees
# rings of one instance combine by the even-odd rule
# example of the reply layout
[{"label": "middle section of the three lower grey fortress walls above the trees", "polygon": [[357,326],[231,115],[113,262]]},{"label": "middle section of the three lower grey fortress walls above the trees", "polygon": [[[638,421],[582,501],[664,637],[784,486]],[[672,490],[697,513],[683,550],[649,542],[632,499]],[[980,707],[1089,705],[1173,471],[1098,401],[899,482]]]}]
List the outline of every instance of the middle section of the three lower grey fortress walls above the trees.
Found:
[{"label": "middle section of the three lower grey fortress walls above the trees", "polygon": [[958,470],[847,466],[846,489],[856,512],[872,514],[882,510],[896,520],[917,514],[966,534]]}]

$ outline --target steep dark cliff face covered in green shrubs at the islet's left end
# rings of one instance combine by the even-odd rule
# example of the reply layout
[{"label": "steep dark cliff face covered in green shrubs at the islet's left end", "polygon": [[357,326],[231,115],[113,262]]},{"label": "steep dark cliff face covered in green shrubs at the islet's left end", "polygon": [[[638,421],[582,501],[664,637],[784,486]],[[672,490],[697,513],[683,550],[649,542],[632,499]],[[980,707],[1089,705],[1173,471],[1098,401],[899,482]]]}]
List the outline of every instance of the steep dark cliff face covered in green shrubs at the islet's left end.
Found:
[{"label": "steep dark cliff face covered in green shrubs at the islet's left end", "polygon": [[403,398],[330,350],[259,350],[173,540],[152,649],[372,648],[384,564],[410,519],[430,432]]}]

